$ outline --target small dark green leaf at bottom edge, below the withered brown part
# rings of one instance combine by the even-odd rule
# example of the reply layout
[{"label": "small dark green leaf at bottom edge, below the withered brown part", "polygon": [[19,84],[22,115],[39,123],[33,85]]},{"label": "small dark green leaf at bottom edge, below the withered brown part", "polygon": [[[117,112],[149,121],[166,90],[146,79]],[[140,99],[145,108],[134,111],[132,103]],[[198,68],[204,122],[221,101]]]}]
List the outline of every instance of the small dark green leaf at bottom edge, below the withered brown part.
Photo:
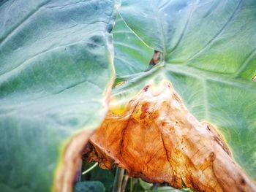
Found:
[{"label": "small dark green leaf at bottom edge, below the withered brown part", "polygon": [[78,182],[75,184],[74,188],[75,192],[104,192],[105,187],[99,181],[85,181],[85,182]]}]

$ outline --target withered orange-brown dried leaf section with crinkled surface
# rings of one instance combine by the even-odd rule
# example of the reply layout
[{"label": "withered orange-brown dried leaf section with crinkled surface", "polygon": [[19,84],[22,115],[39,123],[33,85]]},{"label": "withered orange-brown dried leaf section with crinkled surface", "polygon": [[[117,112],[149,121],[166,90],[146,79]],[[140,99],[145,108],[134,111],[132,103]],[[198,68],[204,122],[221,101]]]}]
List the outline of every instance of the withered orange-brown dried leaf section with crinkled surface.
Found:
[{"label": "withered orange-brown dried leaf section with crinkled surface", "polygon": [[200,123],[170,83],[147,85],[121,113],[110,109],[83,153],[104,169],[195,191],[256,191],[214,126]]}]

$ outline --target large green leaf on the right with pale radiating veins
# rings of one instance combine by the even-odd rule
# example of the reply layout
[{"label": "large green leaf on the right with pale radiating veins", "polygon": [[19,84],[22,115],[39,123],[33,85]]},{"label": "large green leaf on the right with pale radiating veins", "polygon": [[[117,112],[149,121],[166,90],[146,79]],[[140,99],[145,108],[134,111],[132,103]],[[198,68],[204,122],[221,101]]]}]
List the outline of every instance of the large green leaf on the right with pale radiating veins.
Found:
[{"label": "large green leaf on the right with pale radiating veins", "polygon": [[[118,70],[127,75],[118,80],[126,83],[113,96],[129,99],[147,83],[172,82],[193,115],[222,131],[238,164],[256,180],[255,9],[254,0],[122,1],[120,15],[127,26],[117,23],[116,28],[130,29],[130,38],[145,45],[139,49],[160,50],[164,59],[136,74],[123,62],[123,71]],[[133,56],[126,51],[123,61]],[[145,66],[145,60],[137,65]]]}]

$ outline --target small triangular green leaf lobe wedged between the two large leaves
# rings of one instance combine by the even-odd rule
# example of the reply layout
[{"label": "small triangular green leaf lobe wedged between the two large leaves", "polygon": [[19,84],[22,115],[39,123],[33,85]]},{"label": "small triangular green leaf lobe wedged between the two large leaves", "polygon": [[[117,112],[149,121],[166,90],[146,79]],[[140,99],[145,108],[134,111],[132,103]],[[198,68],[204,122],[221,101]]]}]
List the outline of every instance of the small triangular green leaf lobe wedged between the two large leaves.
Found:
[{"label": "small triangular green leaf lobe wedged between the two large leaves", "polygon": [[114,64],[117,77],[144,72],[148,67],[148,58],[151,58],[153,50],[132,33],[120,15],[116,19],[112,34],[115,39]]}]

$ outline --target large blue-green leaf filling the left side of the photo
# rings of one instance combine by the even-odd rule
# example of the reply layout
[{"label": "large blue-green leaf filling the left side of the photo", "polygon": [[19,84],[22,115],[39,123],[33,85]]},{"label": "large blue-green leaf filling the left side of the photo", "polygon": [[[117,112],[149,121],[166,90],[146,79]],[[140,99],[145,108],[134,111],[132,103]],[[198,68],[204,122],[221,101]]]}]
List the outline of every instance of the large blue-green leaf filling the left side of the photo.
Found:
[{"label": "large blue-green leaf filling the left side of the photo", "polygon": [[0,2],[0,191],[50,191],[66,144],[105,117],[117,4]]}]

